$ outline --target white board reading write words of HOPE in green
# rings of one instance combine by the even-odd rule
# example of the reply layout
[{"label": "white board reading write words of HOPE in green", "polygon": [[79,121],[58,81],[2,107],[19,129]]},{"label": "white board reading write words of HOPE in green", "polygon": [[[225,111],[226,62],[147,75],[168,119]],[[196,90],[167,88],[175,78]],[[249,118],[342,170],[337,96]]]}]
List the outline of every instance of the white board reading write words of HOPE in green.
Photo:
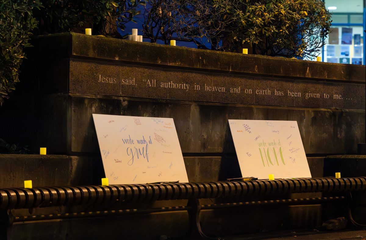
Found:
[{"label": "white board reading write words of HOPE in green", "polygon": [[242,177],[311,178],[296,121],[229,120]]}]

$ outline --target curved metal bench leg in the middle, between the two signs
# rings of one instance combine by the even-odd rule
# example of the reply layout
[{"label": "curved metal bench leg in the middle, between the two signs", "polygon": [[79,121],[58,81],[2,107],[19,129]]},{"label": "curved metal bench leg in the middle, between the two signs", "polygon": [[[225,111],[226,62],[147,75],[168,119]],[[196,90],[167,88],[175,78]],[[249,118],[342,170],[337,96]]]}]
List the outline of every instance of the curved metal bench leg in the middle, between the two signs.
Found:
[{"label": "curved metal bench leg in the middle, between the two signs", "polygon": [[199,204],[198,199],[190,199],[188,200],[188,217],[190,223],[190,231],[187,239],[205,239],[212,240],[217,238],[212,238],[206,236],[201,229],[201,225],[199,223],[199,212],[201,212],[201,204]]}]

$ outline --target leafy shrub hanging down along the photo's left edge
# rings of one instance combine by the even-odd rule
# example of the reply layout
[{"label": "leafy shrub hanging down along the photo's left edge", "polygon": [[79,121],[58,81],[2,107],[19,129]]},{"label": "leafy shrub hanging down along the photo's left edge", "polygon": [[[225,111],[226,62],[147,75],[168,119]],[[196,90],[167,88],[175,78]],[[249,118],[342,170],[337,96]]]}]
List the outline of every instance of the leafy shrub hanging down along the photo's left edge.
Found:
[{"label": "leafy shrub hanging down along the photo's left edge", "polygon": [[31,32],[37,26],[32,10],[39,6],[38,0],[6,0],[0,4],[0,105],[19,81],[23,48],[29,46]]}]

